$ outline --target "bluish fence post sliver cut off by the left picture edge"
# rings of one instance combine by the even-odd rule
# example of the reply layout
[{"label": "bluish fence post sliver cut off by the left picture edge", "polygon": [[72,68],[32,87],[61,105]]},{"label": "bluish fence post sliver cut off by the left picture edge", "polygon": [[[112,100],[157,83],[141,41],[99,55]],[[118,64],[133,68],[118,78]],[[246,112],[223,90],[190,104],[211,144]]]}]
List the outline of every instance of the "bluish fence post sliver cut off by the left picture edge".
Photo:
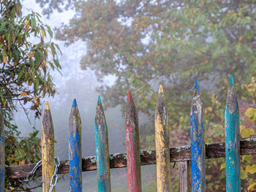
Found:
[{"label": "bluish fence post sliver cut off by the left picture edge", "polygon": [[4,192],[4,174],[5,174],[5,159],[4,159],[4,117],[1,115],[0,109],[0,192]]}]

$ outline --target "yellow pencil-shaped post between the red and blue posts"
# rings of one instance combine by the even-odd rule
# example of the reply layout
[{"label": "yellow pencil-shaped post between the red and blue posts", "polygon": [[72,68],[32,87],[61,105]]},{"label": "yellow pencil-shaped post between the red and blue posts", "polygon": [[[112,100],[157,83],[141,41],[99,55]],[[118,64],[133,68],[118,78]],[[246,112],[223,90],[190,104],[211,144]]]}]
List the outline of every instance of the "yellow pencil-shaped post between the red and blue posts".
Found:
[{"label": "yellow pencil-shaped post between the red and blue posts", "polygon": [[158,192],[170,192],[170,140],[167,121],[165,96],[162,85],[160,85],[154,117]]}]

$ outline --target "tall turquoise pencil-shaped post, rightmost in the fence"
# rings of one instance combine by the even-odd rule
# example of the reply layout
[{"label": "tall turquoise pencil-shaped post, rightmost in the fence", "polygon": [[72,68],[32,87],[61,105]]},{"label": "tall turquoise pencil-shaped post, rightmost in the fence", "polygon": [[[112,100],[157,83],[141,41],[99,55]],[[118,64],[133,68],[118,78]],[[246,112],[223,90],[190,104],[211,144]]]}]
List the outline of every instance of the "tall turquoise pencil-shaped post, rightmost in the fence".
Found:
[{"label": "tall turquoise pencil-shaped post, rightmost in the fence", "polygon": [[233,76],[227,91],[225,108],[226,191],[241,191],[239,108]]}]

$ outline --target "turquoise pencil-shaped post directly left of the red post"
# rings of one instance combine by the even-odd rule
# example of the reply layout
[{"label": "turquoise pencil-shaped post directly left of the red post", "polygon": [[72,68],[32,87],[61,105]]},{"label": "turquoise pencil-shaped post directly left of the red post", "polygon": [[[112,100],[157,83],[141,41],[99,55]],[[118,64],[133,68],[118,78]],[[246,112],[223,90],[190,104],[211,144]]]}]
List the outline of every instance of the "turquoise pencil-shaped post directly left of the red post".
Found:
[{"label": "turquoise pencil-shaped post directly left of the red post", "polygon": [[96,145],[98,192],[109,192],[111,191],[111,185],[110,156],[108,150],[108,127],[100,97],[97,101],[94,133]]}]

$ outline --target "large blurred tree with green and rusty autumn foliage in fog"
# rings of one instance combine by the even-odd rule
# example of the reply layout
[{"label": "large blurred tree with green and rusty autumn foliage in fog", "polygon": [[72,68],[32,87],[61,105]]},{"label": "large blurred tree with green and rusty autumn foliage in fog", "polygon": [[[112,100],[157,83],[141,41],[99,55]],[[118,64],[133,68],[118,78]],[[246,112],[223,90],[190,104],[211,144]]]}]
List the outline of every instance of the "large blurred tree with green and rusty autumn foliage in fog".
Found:
[{"label": "large blurred tree with green and rusty autumn foliage in fog", "polygon": [[[172,144],[189,143],[184,127],[189,127],[195,80],[200,82],[205,107],[206,142],[224,139],[230,74],[240,99],[255,100],[246,85],[256,77],[256,1],[37,1],[48,15],[53,9],[75,10],[69,24],[57,29],[57,38],[67,45],[82,39],[88,51],[81,67],[94,69],[99,80],[116,77],[114,85],[99,88],[108,106],[124,104],[131,90],[138,110],[153,120],[156,87],[164,86],[170,133],[176,136],[171,137]],[[142,138],[144,143],[154,145],[153,130],[153,126],[142,130],[148,135]],[[211,174],[215,171],[218,168]],[[218,191],[223,180],[212,175],[208,180]]]}]

